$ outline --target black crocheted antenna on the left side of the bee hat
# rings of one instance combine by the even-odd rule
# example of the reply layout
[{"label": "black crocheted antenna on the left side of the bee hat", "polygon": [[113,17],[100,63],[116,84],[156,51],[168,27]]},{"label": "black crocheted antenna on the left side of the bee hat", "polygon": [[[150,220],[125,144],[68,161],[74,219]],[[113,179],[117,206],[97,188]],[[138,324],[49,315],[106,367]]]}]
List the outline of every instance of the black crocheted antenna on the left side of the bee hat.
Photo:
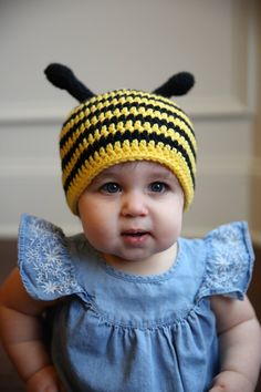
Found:
[{"label": "black crocheted antenna on the left side of the bee hat", "polygon": [[52,63],[48,65],[44,73],[49,82],[59,89],[66,90],[79,102],[84,102],[95,96],[65,65]]}]

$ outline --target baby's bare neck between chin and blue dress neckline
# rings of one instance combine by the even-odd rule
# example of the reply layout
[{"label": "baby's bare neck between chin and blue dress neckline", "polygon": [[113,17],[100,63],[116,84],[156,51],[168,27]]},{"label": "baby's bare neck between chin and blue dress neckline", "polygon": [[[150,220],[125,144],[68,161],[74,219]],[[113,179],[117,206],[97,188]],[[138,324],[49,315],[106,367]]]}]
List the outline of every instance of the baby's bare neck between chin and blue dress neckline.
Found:
[{"label": "baby's bare neck between chin and blue dress neckline", "polygon": [[145,260],[122,260],[111,255],[103,255],[106,262],[125,274],[132,275],[159,275],[166,272],[176,261],[178,245],[175,243],[170,248],[150,256]]}]

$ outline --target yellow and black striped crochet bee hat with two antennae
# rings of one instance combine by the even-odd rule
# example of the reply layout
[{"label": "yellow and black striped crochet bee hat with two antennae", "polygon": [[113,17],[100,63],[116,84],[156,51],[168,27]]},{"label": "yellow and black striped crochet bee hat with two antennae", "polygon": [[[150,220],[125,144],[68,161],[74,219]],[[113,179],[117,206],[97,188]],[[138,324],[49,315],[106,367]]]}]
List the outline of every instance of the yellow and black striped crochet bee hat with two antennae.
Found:
[{"label": "yellow and black striped crochet bee hat with two antennae", "polygon": [[63,188],[73,214],[77,215],[83,190],[103,169],[144,159],[160,163],[176,175],[188,209],[197,144],[189,117],[170,96],[190,90],[190,73],[174,75],[153,93],[116,90],[95,95],[64,65],[50,64],[44,72],[52,84],[80,101],[60,135]]}]

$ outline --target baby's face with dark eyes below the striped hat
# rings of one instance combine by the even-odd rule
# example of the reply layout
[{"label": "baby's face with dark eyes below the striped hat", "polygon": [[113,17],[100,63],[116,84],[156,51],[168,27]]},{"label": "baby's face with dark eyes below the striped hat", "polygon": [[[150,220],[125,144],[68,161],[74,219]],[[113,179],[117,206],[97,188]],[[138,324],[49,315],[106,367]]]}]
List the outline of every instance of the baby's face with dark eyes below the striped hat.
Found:
[{"label": "baby's face with dark eyes below the striped hat", "polygon": [[174,246],[182,209],[184,193],[176,176],[146,161],[104,169],[79,200],[91,245],[105,258],[123,261],[149,259]]}]

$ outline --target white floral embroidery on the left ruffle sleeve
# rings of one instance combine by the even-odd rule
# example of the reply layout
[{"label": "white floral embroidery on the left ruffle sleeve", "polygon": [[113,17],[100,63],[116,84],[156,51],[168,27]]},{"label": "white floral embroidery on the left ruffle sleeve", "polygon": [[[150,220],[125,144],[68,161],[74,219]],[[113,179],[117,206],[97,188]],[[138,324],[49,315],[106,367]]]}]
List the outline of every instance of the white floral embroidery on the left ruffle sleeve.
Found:
[{"label": "white floral embroidery on the left ruffle sleeve", "polygon": [[75,292],[77,282],[63,233],[52,224],[32,216],[25,216],[24,220],[23,259],[33,269],[31,278],[39,289],[54,297]]}]

